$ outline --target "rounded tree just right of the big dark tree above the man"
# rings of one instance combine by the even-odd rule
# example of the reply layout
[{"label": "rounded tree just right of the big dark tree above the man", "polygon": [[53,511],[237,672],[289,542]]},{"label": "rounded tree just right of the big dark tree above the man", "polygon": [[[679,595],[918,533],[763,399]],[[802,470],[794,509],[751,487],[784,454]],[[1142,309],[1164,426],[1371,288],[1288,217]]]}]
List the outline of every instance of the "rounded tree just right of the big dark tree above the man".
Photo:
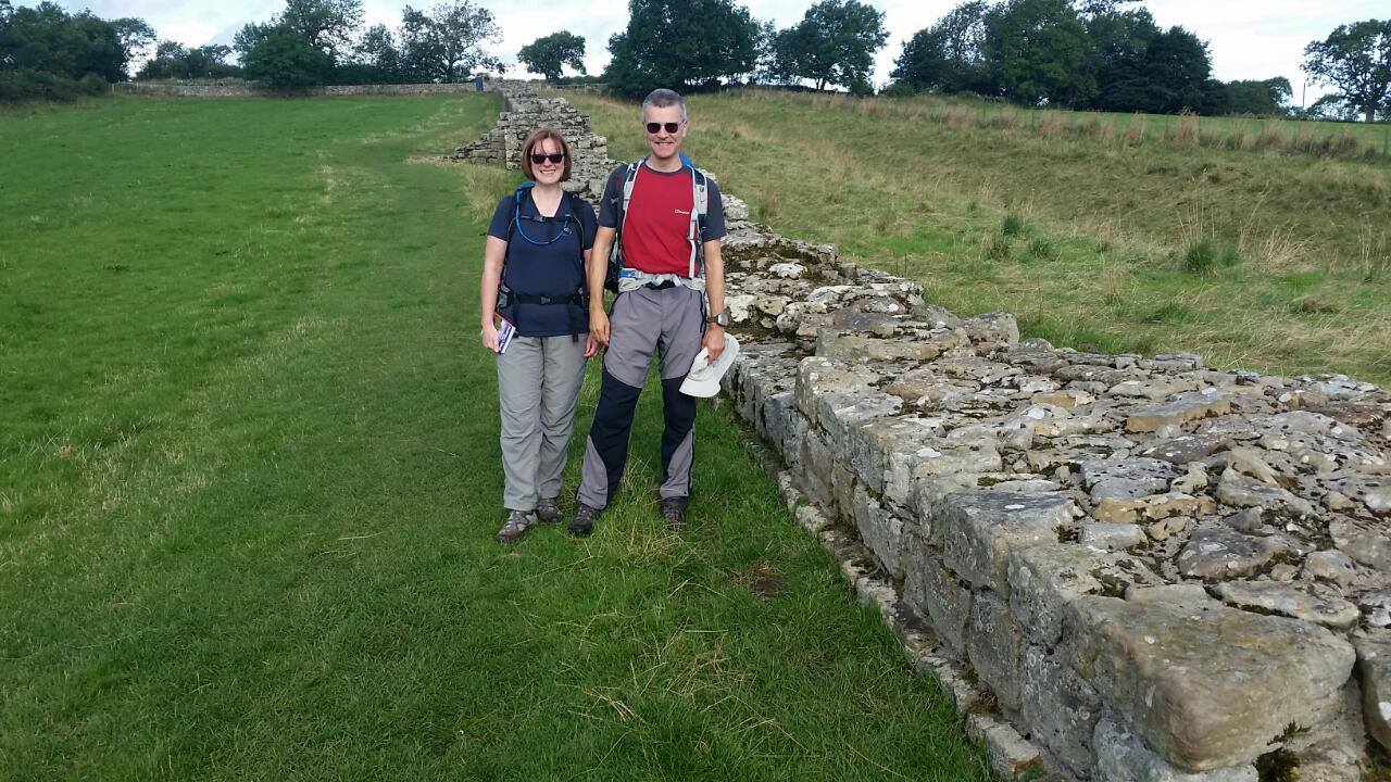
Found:
[{"label": "rounded tree just right of the big dark tree above the man", "polygon": [[775,71],[785,77],[862,92],[874,71],[874,53],[889,32],[883,11],[857,0],[821,0],[807,8],[797,25],[773,39]]}]

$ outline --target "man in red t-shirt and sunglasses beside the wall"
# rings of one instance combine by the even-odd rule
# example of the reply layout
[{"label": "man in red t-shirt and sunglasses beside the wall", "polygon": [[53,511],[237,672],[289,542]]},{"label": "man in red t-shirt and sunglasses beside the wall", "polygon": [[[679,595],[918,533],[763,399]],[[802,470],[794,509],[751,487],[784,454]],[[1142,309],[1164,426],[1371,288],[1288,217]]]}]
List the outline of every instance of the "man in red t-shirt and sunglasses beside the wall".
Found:
[{"label": "man in red t-shirt and sunglasses beside the wall", "polygon": [[[661,356],[662,486],[668,529],[686,523],[696,441],[696,399],[682,381],[701,346],[714,360],[725,349],[725,207],[715,182],[682,157],[689,121],[686,102],[657,89],[643,102],[643,132],[651,152],[641,164],[619,166],[600,205],[598,235],[588,269],[590,334],[606,346],[600,402],[594,410],[577,505],[569,529],[590,534],[623,477],[637,397],[652,355]],[[632,175],[632,178],[630,178]],[[700,185],[708,196],[697,220]],[[627,209],[625,189],[632,188]],[[700,224],[702,223],[702,224]],[[604,312],[604,280],[615,237],[623,257],[612,313]],[[701,257],[704,256],[704,257]],[[708,301],[708,309],[707,309]]]}]

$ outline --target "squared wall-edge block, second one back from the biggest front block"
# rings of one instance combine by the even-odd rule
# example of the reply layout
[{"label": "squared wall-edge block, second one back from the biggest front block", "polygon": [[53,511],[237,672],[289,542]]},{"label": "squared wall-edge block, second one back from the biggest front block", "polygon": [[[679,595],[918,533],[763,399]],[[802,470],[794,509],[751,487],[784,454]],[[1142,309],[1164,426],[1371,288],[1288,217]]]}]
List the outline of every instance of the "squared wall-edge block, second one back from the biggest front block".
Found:
[{"label": "squared wall-edge block, second one back from the biggest front block", "polygon": [[1057,543],[1057,530],[1075,505],[1057,494],[975,491],[949,494],[933,506],[931,525],[940,530],[946,564],[976,587],[1008,596],[1013,551]]}]

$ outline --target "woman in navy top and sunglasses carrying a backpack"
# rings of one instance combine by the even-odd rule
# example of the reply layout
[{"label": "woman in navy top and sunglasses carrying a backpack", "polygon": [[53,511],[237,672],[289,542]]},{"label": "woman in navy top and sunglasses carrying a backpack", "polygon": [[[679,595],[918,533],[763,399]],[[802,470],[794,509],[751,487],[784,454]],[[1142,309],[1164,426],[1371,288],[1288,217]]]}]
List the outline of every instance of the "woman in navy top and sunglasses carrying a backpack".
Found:
[{"label": "woman in navy top and sunglasses carrying a backpack", "polygon": [[508,519],[499,543],[561,518],[561,470],[595,349],[584,294],[594,209],[561,189],[570,178],[569,145],[551,128],[533,132],[522,171],[534,184],[498,203],[483,253],[483,345],[498,353],[502,408]]}]

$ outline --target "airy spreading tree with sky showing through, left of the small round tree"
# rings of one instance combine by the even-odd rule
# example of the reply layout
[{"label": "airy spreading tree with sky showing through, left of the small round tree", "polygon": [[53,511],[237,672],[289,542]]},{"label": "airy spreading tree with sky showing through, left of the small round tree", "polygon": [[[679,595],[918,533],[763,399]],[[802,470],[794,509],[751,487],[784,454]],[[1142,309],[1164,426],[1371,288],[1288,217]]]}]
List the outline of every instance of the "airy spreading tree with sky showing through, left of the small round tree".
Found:
[{"label": "airy spreading tree with sky showing through, left of the small round tree", "polygon": [[401,22],[405,71],[421,81],[456,82],[477,68],[502,71],[502,61],[483,50],[502,40],[492,11],[470,0],[451,0],[424,11],[406,6]]}]

